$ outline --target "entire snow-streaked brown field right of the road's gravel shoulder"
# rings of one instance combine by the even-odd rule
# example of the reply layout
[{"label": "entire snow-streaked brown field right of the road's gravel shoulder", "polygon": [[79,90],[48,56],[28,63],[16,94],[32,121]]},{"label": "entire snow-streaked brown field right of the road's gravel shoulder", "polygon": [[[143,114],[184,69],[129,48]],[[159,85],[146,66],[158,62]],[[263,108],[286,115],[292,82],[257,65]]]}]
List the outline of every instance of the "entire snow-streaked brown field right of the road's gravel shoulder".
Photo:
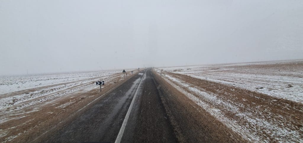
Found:
[{"label": "entire snow-streaked brown field right of the road's gravel shoulder", "polygon": [[303,60],[155,71],[247,141],[303,141]]}]

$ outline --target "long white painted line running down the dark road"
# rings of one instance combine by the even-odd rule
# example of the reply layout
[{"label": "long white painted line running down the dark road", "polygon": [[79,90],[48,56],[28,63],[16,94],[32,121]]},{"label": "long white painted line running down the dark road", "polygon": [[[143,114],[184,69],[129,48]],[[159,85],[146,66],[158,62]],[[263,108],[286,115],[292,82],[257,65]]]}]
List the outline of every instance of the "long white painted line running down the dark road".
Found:
[{"label": "long white painted line running down the dark road", "polygon": [[[148,71],[148,70],[147,70],[147,71]],[[147,71],[146,71],[146,72],[147,72]],[[146,73],[146,72],[145,72],[145,73]],[[124,118],[124,121],[123,121],[123,123],[122,123],[121,129],[120,129],[120,131],[119,131],[119,134],[118,134],[118,136],[117,136],[117,138],[116,138],[115,143],[120,143],[120,142],[121,142],[121,139],[122,139],[122,136],[123,136],[123,133],[124,133],[124,130],[125,130],[125,126],[126,126],[126,124],[127,124],[128,118],[129,118],[129,114],[131,113],[132,106],[133,106],[133,104],[134,104],[134,102],[135,102],[135,98],[136,98],[137,93],[138,93],[138,90],[139,90],[139,88],[140,88],[141,81],[142,81],[142,79],[143,79],[144,76],[145,76],[145,73],[144,73],[143,77],[142,77],[141,80],[140,80],[140,83],[139,83],[138,88],[137,88],[137,90],[136,90],[136,92],[135,92],[135,95],[134,95],[134,97],[133,97],[132,103],[131,103],[131,105],[130,105],[129,108],[128,108],[128,111],[127,111],[127,113],[126,113],[126,116],[125,116],[125,118]]]}]

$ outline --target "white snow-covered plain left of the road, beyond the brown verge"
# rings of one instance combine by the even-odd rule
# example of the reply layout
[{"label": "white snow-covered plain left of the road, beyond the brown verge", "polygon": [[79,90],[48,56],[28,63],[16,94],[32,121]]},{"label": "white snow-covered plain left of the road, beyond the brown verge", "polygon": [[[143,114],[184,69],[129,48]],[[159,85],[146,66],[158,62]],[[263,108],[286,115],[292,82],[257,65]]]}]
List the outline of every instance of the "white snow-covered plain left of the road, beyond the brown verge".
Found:
[{"label": "white snow-covered plain left of the road, beyond the brown verge", "polygon": [[0,77],[0,121],[7,121],[6,115],[12,116],[37,103],[46,104],[58,97],[97,89],[95,81],[104,80],[108,84],[117,73],[121,70]]}]

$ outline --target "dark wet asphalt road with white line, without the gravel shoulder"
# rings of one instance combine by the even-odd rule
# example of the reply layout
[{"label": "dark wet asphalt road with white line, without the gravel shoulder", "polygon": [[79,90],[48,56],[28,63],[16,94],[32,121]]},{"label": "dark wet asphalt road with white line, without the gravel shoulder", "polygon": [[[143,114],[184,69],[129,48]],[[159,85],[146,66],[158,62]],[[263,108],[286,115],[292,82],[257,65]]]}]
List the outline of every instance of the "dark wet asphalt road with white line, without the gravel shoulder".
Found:
[{"label": "dark wet asphalt road with white line, without the gravel shoulder", "polygon": [[[67,119],[68,120],[68,119]],[[151,69],[33,142],[176,142]]]}]

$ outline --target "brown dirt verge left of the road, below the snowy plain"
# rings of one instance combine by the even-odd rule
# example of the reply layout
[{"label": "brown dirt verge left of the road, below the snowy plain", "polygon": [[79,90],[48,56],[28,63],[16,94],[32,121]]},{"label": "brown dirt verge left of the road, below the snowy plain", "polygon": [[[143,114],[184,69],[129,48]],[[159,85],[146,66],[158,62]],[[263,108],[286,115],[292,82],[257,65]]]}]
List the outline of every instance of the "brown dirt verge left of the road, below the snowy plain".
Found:
[{"label": "brown dirt verge left of the road, below the snowy plain", "polygon": [[[136,72],[134,75],[138,74]],[[59,126],[64,123],[62,121],[66,121],[74,118],[76,115],[76,111],[82,109],[84,106],[91,103],[96,98],[102,96],[100,99],[104,98],[108,92],[114,90],[116,87],[123,84],[125,81],[130,79],[132,76],[129,75],[125,80],[120,77],[121,74],[115,75],[113,82],[107,83],[102,86],[102,92],[99,92],[99,89],[94,89],[92,91],[88,91],[86,93],[76,93],[72,96],[64,96],[55,99],[52,103],[45,104],[42,107],[39,107],[39,111],[30,112],[22,114],[25,116],[23,118],[18,119],[20,116],[10,116],[11,119],[7,122],[1,123],[0,129],[6,131],[6,135],[0,137],[1,142],[31,142],[34,140],[36,136],[39,136],[48,130],[52,129],[55,126]],[[22,91],[28,92],[28,91]],[[19,92],[18,92],[19,93]],[[17,94],[14,93],[14,94]],[[58,105],[62,105],[64,103],[74,102],[64,108],[56,108]],[[91,106],[90,104],[89,106]],[[89,108],[89,106],[87,106]],[[35,107],[29,106],[23,111],[32,111]],[[78,112],[78,113],[81,113]],[[14,138],[14,136],[16,136]]]}]

